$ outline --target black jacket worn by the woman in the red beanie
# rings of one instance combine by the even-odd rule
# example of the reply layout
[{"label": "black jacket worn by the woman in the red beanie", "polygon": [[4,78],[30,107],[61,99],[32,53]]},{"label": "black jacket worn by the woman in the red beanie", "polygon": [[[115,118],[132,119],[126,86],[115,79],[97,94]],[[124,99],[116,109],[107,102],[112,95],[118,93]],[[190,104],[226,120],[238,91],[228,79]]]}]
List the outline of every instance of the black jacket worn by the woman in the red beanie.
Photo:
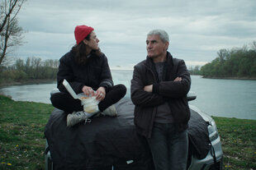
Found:
[{"label": "black jacket worn by the woman in the red beanie", "polygon": [[70,51],[59,59],[59,71],[57,73],[57,86],[60,91],[66,92],[62,82],[66,79],[72,86],[75,93],[82,93],[84,85],[97,90],[98,87],[105,87],[106,91],[113,86],[111,71],[108,66],[107,57],[92,54],[87,58],[85,65],[75,62],[75,53]]}]

